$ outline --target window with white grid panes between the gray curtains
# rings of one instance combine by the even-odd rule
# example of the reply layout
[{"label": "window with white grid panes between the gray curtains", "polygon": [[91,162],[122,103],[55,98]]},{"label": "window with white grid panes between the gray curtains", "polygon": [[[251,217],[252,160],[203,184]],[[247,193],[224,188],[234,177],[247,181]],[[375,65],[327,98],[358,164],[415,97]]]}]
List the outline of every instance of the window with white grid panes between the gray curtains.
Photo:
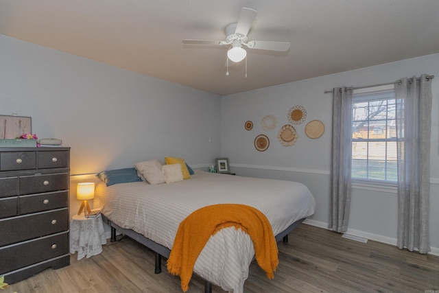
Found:
[{"label": "window with white grid panes between the gray curtains", "polygon": [[353,92],[352,179],[396,184],[393,86]]}]

